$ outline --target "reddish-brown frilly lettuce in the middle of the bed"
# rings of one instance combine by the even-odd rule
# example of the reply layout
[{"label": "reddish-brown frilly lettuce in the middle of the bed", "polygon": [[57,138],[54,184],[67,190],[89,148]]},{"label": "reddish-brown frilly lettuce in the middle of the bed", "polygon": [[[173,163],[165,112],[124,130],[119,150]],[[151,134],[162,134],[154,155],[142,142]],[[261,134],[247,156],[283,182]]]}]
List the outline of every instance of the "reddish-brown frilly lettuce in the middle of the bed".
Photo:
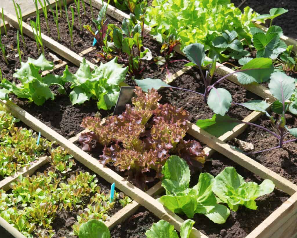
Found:
[{"label": "reddish-brown frilly lettuce in the middle of the bed", "polygon": [[[121,115],[110,116],[105,125],[97,117],[84,118],[81,126],[90,132],[79,137],[83,150],[91,150],[91,142],[104,145],[101,163],[113,162],[121,171],[131,171],[135,183],[143,187],[152,181],[145,172],[156,171],[161,177],[161,169],[170,153],[182,156],[194,167],[202,168],[205,154],[197,141],[184,141],[188,126],[188,113],[183,108],[170,104],[160,104],[161,96],[156,90],[144,93],[136,87],[137,97],[126,105]],[[133,179],[131,177],[131,179]]]}]

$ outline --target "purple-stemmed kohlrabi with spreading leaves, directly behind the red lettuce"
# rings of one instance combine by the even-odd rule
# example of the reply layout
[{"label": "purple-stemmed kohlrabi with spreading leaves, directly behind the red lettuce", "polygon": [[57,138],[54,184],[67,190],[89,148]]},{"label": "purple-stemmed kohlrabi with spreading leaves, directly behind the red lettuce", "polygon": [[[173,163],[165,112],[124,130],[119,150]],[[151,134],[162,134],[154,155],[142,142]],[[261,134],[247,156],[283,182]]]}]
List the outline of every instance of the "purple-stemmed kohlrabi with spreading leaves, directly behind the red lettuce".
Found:
[{"label": "purple-stemmed kohlrabi with spreading leaves, directly behind the red lettuce", "polygon": [[[206,61],[204,46],[200,43],[188,45],[184,48],[183,52],[191,61],[191,63],[187,65],[195,66],[199,69],[200,75],[203,79],[203,84],[205,86],[204,93],[172,87],[168,84],[165,84],[161,80],[154,79],[136,80],[138,86],[140,86],[144,91],[147,91],[149,88],[159,89],[161,87],[168,87],[197,93],[204,98],[204,102],[207,103],[208,107],[210,107],[214,113],[224,116],[229,110],[231,104],[236,103],[232,102],[232,96],[225,88],[215,88],[219,82],[232,74],[236,74],[238,81],[242,84],[250,84],[253,82],[261,83],[269,80],[270,74],[274,70],[271,59],[255,58],[244,64],[240,70],[227,74],[213,82],[213,77],[216,70],[216,58],[214,58],[212,61]],[[203,69],[208,65],[210,65],[210,70],[207,70],[206,74],[204,74]]]}]

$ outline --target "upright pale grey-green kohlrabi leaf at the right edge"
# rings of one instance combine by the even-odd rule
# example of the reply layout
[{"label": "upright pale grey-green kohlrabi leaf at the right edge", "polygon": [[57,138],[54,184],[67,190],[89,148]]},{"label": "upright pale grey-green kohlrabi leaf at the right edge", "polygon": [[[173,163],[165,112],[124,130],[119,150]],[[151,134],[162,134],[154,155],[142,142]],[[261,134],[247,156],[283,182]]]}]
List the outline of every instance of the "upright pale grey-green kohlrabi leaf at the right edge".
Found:
[{"label": "upright pale grey-green kohlrabi leaf at the right edge", "polygon": [[284,73],[276,72],[271,74],[268,86],[272,95],[284,104],[294,92],[295,80]]}]

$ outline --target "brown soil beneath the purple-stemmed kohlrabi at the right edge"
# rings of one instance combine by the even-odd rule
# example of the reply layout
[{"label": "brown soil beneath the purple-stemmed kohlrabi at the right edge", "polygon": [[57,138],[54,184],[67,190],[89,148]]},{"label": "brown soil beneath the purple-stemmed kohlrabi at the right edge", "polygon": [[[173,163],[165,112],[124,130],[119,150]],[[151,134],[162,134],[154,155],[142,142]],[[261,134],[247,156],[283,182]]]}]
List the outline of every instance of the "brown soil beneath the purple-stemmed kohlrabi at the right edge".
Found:
[{"label": "brown soil beneath the purple-stemmed kohlrabi at the right edge", "polygon": [[[276,118],[276,116],[274,115]],[[297,118],[286,114],[287,126],[289,128],[296,127]],[[265,128],[276,132],[268,118],[264,115],[255,122],[257,125],[264,126]],[[255,126],[250,126],[244,133],[237,137],[243,141],[254,144],[254,151],[260,151],[276,147],[279,145],[278,139],[268,132],[261,130]],[[286,136],[285,140],[295,139],[293,136]],[[230,144],[238,146],[234,141]],[[249,155],[255,161],[263,164],[266,168],[271,169],[277,174],[290,180],[292,183],[297,184],[297,144],[290,142],[284,144],[282,149],[274,149],[266,152],[261,152],[255,155]]]}]

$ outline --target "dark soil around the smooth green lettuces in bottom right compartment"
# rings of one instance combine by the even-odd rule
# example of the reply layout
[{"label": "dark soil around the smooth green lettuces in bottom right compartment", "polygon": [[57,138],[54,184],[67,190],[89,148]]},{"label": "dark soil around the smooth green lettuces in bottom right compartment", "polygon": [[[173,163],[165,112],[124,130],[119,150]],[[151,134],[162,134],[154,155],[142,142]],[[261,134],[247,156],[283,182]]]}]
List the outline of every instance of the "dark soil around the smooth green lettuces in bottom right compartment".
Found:
[{"label": "dark soil around the smooth green lettuces in bottom right compartment", "polygon": [[[233,166],[238,174],[243,176],[247,182],[253,181],[260,184],[263,181],[257,175],[249,172],[247,169],[244,169],[219,153],[215,153],[212,158],[213,160],[211,162],[206,162],[203,172],[208,172],[216,176],[225,167]],[[199,174],[191,176],[190,186],[196,185],[198,176]],[[206,216],[196,214],[194,215],[194,220],[196,222],[194,227],[206,234],[209,238],[244,238],[289,197],[290,196],[283,191],[275,188],[272,193],[256,199],[258,206],[257,210],[251,210],[244,206],[239,207],[236,212],[231,211],[230,216],[224,224],[213,223]],[[181,218],[188,219],[185,215],[181,215]]]}]

